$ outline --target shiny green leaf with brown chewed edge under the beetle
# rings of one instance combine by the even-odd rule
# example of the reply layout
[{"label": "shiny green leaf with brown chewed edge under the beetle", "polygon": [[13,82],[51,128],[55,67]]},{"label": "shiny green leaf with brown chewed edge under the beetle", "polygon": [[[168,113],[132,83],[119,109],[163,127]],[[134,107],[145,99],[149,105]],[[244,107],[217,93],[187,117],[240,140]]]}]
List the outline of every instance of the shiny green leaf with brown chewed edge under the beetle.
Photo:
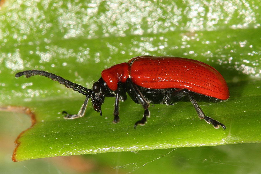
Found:
[{"label": "shiny green leaf with brown chewed edge under the beetle", "polygon": [[[260,142],[258,1],[8,1],[1,8],[0,104],[2,110],[26,106],[36,121],[19,135],[14,160]],[[102,105],[103,117],[88,106],[83,118],[65,120],[61,112],[77,113],[84,96],[44,77],[14,77],[21,70],[46,70],[91,88],[104,68],[143,54],[216,68],[230,98],[199,104],[227,129],[215,130],[198,119],[191,103],[178,102],[151,105],[148,123],[135,130],[143,109],[130,98],[120,103],[118,124],[111,122],[113,98]]]}]

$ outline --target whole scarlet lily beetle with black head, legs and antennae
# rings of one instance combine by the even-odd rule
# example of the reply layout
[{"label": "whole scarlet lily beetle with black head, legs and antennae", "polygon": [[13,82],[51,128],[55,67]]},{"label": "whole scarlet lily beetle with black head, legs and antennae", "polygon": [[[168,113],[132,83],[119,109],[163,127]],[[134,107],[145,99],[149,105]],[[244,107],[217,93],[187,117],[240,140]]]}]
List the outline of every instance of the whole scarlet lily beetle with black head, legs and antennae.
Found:
[{"label": "whole scarlet lily beetle with black head, legs and antennae", "polygon": [[173,105],[184,96],[189,97],[200,119],[212,124],[214,128],[226,128],[224,124],[205,116],[193,97],[193,94],[200,94],[220,100],[229,98],[229,89],[224,78],[213,67],[200,61],[180,57],[134,57],[127,63],[104,69],[98,81],[93,83],[92,89],[42,70],[22,71],[15,77],[22,75],[45,76],[86,96],[78,114],[70,115],[63,111],[65,119],[83,117],[89,98],[93,109],[102,116],[104,98],[115,97],[113,123],[118,123],[119,101],[127,99],[127,92],[135,103],[144,108],[143,117],[135,123],[134,128],[147,122],[147,117],[150,116],[149,103]]}]

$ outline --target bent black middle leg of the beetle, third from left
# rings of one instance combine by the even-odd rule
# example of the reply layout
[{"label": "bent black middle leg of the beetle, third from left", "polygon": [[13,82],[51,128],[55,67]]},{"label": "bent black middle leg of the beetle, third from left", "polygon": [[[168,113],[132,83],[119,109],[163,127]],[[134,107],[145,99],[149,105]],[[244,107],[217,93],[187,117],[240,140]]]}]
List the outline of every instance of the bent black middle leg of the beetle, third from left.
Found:
[{"label": "bent black middle leg of the beetle, third from left", "polygon": [[130,90],[133,90],[132,92],[135,94],[135,97],[139,101],[139,104],[142,105],[144,108],[144,114],[141,120],[137,121],[134,124],[134,128],[137,127],[137,125],[144,125],[147,122],[147,117],[150,117],[150,111],[148,110],[148,107],[150,106],[148,101],[145,99],[145,97],[142,95],[142,93],[139,91],[137,86],[132,82],[131,78],[128,78],[126,80],[126,83],[128,84]]}]

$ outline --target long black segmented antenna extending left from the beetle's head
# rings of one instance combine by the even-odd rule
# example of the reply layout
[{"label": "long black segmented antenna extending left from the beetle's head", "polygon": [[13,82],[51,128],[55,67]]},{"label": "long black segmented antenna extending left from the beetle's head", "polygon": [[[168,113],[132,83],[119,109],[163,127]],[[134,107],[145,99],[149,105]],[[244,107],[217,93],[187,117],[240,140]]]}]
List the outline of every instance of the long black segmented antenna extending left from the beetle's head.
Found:
[{"label": "long black segmented antenna extending left from the beetle's head", "polygon": [[21,71],[19,73],[15,74],[15,77],[20,77],[22,75],[25,75],[26,78],[31,77],[32,75],[42,75],[45,77],[48,77],[54,81],[58,81],[60,84],[66,86],[67,88],[71,88],[75,91],[77,91],[78,93],[81,93],[83,95],[85,95],[86,97],[90,98],[91,94],[93,93],[93,90],[85,88],[81,85],[78,85],[76,83],[73,83],[69,80],[66,80],[58,75],[52,74],[52,73],[48,73],[46,71],[42,71],[42,70],[27,70],[27,71]]}]

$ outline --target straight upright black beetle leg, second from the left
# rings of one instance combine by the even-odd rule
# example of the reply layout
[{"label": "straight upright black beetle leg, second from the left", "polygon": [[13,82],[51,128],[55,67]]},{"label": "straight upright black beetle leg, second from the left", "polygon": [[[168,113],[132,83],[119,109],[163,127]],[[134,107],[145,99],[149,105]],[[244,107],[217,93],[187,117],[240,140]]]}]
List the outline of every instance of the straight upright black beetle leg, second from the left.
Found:
[{"label": "straight upright black beetle leg, second from the left", "polygon": [[114,103],[114,111],[113,111],[113,115],[114,115],[114,119],[113,119],[113,123],[118,123],[120,121],[119,119],[119,100],[121,98],[122,101],[127,99],[127,95],[126,95],[126,91],[124,90],[124,86],[122,84],[122,82],[118,82],[117,83],[118,87],[116,90],[116,96],[115,96],[115,103]]}]

